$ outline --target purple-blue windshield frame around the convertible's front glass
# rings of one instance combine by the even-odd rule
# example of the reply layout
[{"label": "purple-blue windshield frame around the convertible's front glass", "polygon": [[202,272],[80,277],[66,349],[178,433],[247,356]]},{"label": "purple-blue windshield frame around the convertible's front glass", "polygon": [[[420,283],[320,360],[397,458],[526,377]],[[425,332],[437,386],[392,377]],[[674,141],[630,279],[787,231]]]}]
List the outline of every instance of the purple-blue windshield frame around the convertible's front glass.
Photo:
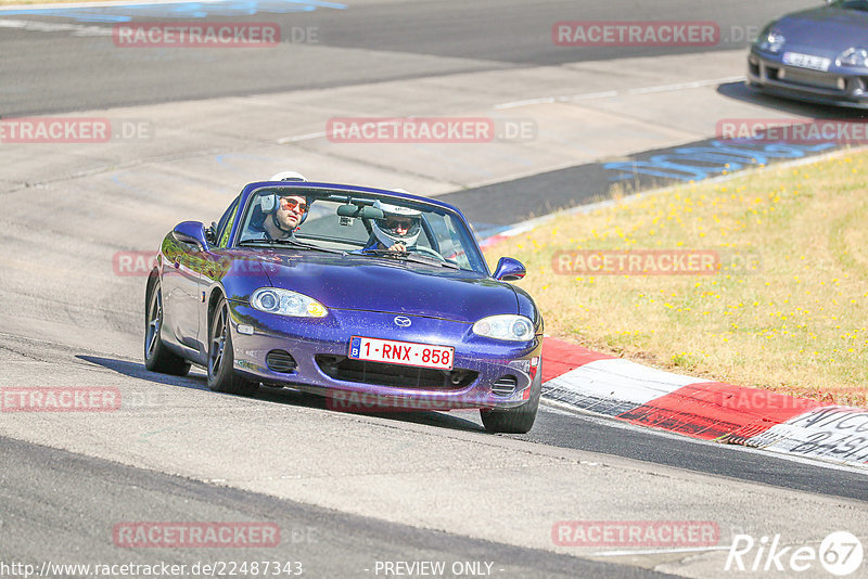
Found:
[{"label": "purple-blue windshield frame around the convertible's front glass", "polygon": [[[253,210],[251,205],[257,198],[257,193],[263,190],[281,190],[286,191],[290,195],[315,196],[318,198],[329,198],[334,202],[360,202],[362,200],[371,202],[374,200],[382,200],[385,203],[395,203],[398,205],[416,206],[422,211],[431,211],[434,214],[448,216],[456,223],[454,229],[459,236],[459,242],[464,249],[470,263],[470,269],[460,268],[459,271],[472,271],[475,273],[483,273],[486,276],[492,275],[488,269],[488,263],[480,248],[473,229],[470,227],[467,218],[456,207],[438,202],[436,200],[420,197],[408,193],[399,193],[394,191],[386,191],[373,188],[363,188],[355,185],[342,185],[335,183],[320,183],[320,182],[286,182],[286,181],[260,181],[250,183],[241,192],[241,200],[239,208],[235,214],[230,239],[227,243],[227,248],[244,248],[245,246],[239,245],[242,236],[244,222],[247,220],[248,211]],[[315,239],[306,237],[304,235],[304,226],[301,226],[298,241],[303,243],[316,242]],[[275,247],[281,247],[280,244],[273,244]],[[284,245],[283,247],[290,248]],[[246,248],[250,248],[248,246]]]}]

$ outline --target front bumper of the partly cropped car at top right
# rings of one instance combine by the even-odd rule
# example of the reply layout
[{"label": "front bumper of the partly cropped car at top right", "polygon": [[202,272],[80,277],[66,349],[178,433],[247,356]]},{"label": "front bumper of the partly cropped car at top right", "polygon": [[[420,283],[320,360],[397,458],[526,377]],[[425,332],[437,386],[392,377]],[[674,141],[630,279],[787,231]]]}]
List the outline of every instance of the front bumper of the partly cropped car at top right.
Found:
[{"label": "front bumper of the partly cropped car at top right", "polygon": [[868,70],[812,70],[783,64],[781,54],[748,54],[748,85],[765,91],[819,104],[868,108]]}]

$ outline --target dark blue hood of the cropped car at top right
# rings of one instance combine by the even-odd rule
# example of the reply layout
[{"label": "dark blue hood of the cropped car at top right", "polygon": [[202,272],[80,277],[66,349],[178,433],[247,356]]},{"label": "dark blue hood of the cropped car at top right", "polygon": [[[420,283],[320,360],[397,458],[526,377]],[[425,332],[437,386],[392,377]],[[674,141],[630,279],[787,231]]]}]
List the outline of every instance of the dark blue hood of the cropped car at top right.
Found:
[{"label": "dark blue hood of the cropped car at top right", "polygon": [[817,8],[794,12],[773,26],[786,38],[783,50],[809,50],[834,59],[851,47],[868,48],[868,12]]}]

